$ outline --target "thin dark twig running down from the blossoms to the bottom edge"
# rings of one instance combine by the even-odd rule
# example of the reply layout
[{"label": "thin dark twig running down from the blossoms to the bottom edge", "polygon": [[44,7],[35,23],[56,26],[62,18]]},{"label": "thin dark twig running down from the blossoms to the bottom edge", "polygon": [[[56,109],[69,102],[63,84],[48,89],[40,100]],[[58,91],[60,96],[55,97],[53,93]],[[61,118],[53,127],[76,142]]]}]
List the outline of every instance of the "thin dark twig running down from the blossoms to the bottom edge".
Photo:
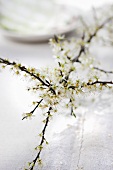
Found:
[{"label": "thin dark twig running down from the blossoms to the bottom edge", "polygon": [[[40,142],[39,146],[42,146],[42,145],[44,144],[44,141],[45,141],[45,131],[46,131],[46,128],[47,128],[48,123],[49,123],[51,110],[52,110],[52,107],[50,107],[49,110],[48,110],[48,112],[47,112],[48,115],[47,115],[47,117],[46,117],[46,119],[45,119],[45,125],[44,125],[44,128],[43,128],[43,130],[42,130],[42,138],[41,138],[41,142]],[[29,168],[29,170],[33,170],[33,169],[34,169],[34,166],[35,166],[37,160],[40,158],[40,154],[41,154],[41,149],[39,149],[39,152],[37,153],[35,159],[32,161],[33,164],[32,164],[32,166]]]}]

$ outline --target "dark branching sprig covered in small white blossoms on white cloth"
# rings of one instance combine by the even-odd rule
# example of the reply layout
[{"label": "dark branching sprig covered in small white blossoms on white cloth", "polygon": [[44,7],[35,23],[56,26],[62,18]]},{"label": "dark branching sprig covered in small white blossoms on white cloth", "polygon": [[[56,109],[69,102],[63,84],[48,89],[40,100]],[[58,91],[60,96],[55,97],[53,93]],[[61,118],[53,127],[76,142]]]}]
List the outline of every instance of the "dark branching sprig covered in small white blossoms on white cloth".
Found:
[{"label": "dark branching sprig covered in small white blossoms on white cloth", "polygon": [[70,115],[76,117],[76,108],[80,104],[79,99],[83,98],[86,93],[101,91],[105,87],[112,88],[113,81],[103,81],[101,75],[113,73],[113,71],[98,68],[98,63],[90,52],[92,40],[106,25],[112,29],[112,21],[113,16],[110,15],[95,27],[93,26],[91,30],[90,27],[87,29],[87,25],[84,24],[82,35],[76,40],[66,40],[63,36],[54,36],[50,40],[50,44],[56,64],[51,68],[37,70],[0,58],[2,68],[10,66],[16,75],[22,74],[33,81],[33,85],[28,90],[36,92],[38,101],[33,102],[34,109],[25,113],[23,119],[31,118],[38,107],[44,112],[44,127],[39,134],[41,140],[35,148],[37,155],[32,162],[29,162],[26,170],[33,170],[37,162],[41,164],[40,154],[43,145],[48,144],[45,138],[46,128],[56,112],[61,112],[61,108],[66,108]]}]

